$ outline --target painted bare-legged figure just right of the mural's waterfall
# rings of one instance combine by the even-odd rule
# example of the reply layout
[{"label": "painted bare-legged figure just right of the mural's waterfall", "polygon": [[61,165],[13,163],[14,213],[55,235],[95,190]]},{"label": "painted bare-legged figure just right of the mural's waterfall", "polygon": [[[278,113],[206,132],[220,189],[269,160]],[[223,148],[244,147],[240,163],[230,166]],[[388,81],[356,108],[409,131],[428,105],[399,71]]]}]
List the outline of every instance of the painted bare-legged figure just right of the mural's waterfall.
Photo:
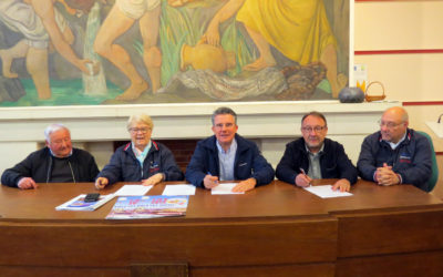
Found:
[{"label": "painted bare-legged figure just right of the mural's waterfall", "polygon": [[114,41],[136,20],[143,39],[143,61],[151,78],[152,91],[161,88],[162,53],[157,47],[161,0],[116,0],[94,42],[94,50],[111,61],[131,81],[117,100],[137,99],[150,85],[140,75],[126,50]]}]

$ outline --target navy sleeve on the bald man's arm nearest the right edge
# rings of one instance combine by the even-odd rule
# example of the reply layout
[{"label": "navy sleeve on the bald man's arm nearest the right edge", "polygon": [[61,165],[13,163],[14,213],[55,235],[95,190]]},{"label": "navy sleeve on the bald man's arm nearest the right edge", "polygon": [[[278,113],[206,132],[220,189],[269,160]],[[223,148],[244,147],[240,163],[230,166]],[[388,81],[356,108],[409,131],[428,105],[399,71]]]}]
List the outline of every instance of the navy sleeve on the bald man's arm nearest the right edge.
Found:
[{"label": "navy sleeve on the bald man's arm nearest the right edge", "polygon": [[426,137],[416,140],[412,166],[405,170],[398,170],[395,173],[401,175],[403,184],[413,184],[420,187],[427,182],[432,174],[432,152]]}]

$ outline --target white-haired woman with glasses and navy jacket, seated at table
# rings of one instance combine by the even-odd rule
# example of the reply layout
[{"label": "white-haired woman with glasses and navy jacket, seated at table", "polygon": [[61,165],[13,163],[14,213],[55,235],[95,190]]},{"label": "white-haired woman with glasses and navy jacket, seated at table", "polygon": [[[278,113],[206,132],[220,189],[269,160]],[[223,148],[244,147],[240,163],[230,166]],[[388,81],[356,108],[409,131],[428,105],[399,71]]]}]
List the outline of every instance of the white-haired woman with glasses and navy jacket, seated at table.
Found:
[{"label": "white-haired woman with glasses and navy jacket, seated at table", "polygon": [[183,173],[173,153],[162,143],[151,140],[154,123],[146,114],[127,121],[131,142],[119,147],[100,172],[95,187],[101,189],[116,182],[143,182],[156,185],[163,181],[182,181]]}]

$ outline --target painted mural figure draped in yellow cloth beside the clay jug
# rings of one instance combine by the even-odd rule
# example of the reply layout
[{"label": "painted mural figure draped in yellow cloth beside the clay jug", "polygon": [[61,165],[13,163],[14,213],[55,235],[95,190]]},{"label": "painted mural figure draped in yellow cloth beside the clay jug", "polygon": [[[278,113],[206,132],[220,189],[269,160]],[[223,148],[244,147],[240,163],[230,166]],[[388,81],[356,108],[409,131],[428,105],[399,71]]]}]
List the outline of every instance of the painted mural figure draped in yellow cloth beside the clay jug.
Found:
[{"label": "painted mural figure draped in yellow cloth beside the clay jug", "polygon": [[272,45],[301,65],[322,62],[328,69],[332,96],[337,98],[347,84],[347,76],[337,70],[337,41],[323,0],[229,0],[215,14],[202,40],[219,45],[219,24],[235,14],[259,51],[258,59],[244,70],[260,71],[276,65]]}]

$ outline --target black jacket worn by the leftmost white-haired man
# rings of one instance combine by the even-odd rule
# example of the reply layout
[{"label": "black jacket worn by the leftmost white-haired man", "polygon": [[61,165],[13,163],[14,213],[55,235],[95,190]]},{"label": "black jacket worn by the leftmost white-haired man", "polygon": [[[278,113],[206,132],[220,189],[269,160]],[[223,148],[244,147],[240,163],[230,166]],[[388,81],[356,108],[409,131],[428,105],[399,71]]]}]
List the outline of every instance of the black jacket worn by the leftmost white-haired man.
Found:
[{"label": "black jacket worn by the leftmost white-haired man", "polygon": [[[75,182],[94,182],[99,168],[94,157],[84,150],[72,148],[68,157]],[[23,177],[31,177],[35,183],[51,183],[53,156],[48,147],[31,153],[14,167],[6,170],[1,175],[1,184],[14,186]]]}]

